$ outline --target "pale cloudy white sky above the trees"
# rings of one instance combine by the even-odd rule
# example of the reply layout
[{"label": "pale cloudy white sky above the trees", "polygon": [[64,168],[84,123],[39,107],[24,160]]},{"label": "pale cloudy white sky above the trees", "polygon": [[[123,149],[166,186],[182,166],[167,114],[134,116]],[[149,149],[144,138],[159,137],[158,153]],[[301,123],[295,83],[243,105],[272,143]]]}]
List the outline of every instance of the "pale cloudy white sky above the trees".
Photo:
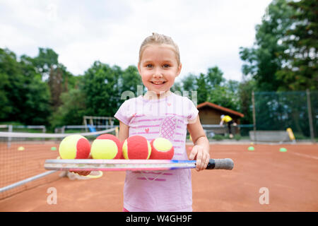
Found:
[{"label": "pale cloudy white sky above the trees", "polygon": [[[240,47],[252,47],[255,25],[271,0],[0,0],[0,48],[36,57],[51,48],[74,75],[94,61],[137,65],[141,42],[158,32],[178,44],[182,72],[218,66],[242,80]],[[178,79],[176,81],[178,81]]]}]

